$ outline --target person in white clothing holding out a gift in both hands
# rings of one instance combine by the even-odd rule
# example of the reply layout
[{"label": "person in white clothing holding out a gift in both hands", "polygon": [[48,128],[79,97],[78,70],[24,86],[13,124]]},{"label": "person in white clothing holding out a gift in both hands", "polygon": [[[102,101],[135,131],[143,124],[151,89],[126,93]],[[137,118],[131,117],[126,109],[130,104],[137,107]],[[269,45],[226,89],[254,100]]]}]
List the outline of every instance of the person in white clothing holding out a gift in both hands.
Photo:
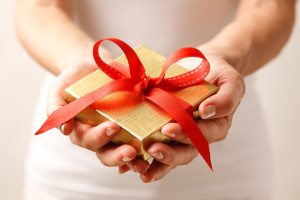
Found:
[{"label": "person in white clothing holding out a gift in both hands", "polygon": [[[129,145],[105,145],[117,134],[117,124],[90,127],[72,119],[60,127],[69,137],[52,130],[32,139],[25,199],[270,199],[268,139],[254,76],[248,75],[282,49],[294,7],[294,0],[19,0],[19,39],[34,59],[58,75],[49,74],[42,87],[35,130],[46,118],[46,107],[49,114],[66,104],[61,97],[65,87],[97,69],[91,54],[95,39],[118,37],[166,56],[195,46],[211,64],[207,80],[220,88],[199,106],[199,127],[213,143],[213,173],[178,124],[165,125],[162,133],[183,144],[151,145],[147,151],[155,161],[148,164],[135,159]],[[107,61],[115,53],[110,46],[100,51]],[[184,166],[175,169],[178,165]],[[120,176],[107,166],[138,175]]]}]

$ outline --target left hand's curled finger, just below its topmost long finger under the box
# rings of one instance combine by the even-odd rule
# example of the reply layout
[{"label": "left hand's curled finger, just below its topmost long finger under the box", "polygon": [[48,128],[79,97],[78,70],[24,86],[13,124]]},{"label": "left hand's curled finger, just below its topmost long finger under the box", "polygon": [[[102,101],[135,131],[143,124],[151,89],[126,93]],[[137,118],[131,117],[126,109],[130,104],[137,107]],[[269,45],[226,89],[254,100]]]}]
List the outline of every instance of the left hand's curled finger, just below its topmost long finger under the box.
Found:
[{"label": "left hand's curled finger, just below its topmost long finger under the box", "polygon": [[104,165],[112,167],[121,166],[132,161],[136,157],[137,152],[128,144],[121,146],[108,144],[100,148],[96,155]]}]

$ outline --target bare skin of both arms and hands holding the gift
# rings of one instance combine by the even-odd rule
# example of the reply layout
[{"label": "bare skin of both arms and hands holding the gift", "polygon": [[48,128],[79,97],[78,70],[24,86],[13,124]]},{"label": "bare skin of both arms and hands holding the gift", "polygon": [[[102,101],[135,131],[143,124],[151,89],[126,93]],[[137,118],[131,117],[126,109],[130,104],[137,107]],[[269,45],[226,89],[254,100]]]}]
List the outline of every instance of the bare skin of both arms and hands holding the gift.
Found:
[{"label": "bare skin of both arms and hands holding the gift", "polygon": [[[73,23],[70,8],[69,0],[18,0],[16,6],[19,40],[41,66],[57,75],[49,91],[49,114],[66,104],[64,88],[97,69],[90,53],[95,41]],[[243,0],[230,24],[209,42],[195,44],[211,64],[206,80],[219,87],[198,109],[203,119],[198,125],[209,143],[226,138],[245,93],[244,77],[280,52],[291,34],[294,17],[295,0]],[[104,60],[112,59],[107,50],[101,48],[100,53]],[[176,123],[166,124],[161,131],[179,143],[152,144],[147,149],[155,158],[151,164],[136,159],[137,152],[130,145],[108,144],[120,130],[114,122],[91,127],[72,119],[60,129],[74,144],[95,152],[104,165],[119,167],[121,174],[133,170],[145,183],[160,180],[198,155]]]}]

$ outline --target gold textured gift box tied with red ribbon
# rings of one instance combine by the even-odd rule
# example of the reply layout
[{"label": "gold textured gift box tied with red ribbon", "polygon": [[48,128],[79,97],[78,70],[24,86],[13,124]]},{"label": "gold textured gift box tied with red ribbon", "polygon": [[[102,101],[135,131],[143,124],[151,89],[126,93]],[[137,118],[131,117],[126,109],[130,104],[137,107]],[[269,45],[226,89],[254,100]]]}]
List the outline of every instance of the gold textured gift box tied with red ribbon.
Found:
[{"label": "gold textured gift box tied with red ribbon", "polygon": [[[166,58],[145,46],[138,46],[134,51],[144,65],[146,74],[150,77],[158,77]],[[128,65],[124,55],[115,61]],[[174,64],[167,71],[166,77],[176,76],[186,71],[186,69]],[[100,69],[96,70],[66,88],[65,99],[67,102],[71,102],[111,81],[112,79]],[[216,91],[216,86],[203,81],[201,84],[181,89],[173,92],[173,94],[197,109],[204,99],[216,93]],[[112,139],[112,142],[132,145],[138,151],[139,157],[145,160],[150,158],[145,151],[145,147],[149,144],[156,141],[170,141],[161,134],[160,129],[163,125],[172,121],[172,118],[152,102],[142,99],[140,95],[130,92],[116,92],[97,102],[100,108],[94,110],[88,107],[79,113],[76,118],[92,126],[108,120],[118,123],[122,129]]]}]

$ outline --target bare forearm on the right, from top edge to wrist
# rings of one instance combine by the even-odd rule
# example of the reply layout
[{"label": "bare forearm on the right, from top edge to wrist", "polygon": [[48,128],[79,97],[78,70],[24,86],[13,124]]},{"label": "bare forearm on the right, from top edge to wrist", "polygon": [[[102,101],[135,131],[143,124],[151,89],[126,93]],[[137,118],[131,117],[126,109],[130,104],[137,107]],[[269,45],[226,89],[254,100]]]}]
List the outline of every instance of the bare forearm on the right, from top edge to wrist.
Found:
[{"label": "bare forearm on the right, from top edge to wrist", "polygon": [[244,0],[234,21],[200,48],[223,57],[246,76],[280,52],[294,15],[294,0]]}]

